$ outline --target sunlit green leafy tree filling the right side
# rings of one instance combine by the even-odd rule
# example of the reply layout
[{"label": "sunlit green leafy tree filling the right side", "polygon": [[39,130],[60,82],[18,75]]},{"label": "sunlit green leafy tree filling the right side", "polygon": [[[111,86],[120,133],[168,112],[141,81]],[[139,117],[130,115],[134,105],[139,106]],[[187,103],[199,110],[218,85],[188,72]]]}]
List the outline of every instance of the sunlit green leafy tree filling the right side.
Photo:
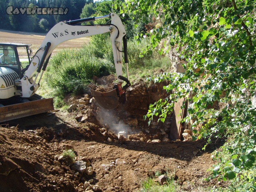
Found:
[{"label": "sunlit green leafy tree filling the right side", "polygon": [[[164,121],[174,102],[191,93],[188,101],[192,104],[183,121],[192,123],[193,140],[208,138],[211,143],[212,137],[230,138],[223,150],[227,158],[222,158],[224,152],[214,157],[220,164],[212,170],[213,176],[237,178],[242,183],[240,188],[255,190],[255,1],[118,0],[117,4],[120,13],[136,22],[140,18],[157,20],[152,30],[136,37],[151,40],[141,57],[153,49],[159,54],[175,49],[180,59],[188,62],[184,64],[185,73],[164,73],[154,78],[155,82],[170,82],[164,86],[169,96],[151,104],[145,119],[150,123],[156,116]],[[211,107],[214,103],[222,107]],[[199,131],[197,126],[201,127]],[[230,186],[230,190],[238,188]]]}]

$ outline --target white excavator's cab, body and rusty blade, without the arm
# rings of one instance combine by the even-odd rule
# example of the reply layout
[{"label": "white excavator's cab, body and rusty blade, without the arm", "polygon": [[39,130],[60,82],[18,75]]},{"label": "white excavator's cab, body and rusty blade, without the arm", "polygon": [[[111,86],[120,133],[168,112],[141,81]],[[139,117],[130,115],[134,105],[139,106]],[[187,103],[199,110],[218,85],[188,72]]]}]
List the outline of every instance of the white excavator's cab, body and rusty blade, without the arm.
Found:
[{"label": "white excavator's cab, body and rusty blade, without the arm", "polygon": [[[34,94],[22,98],[15,83],[24,76],[31,62],[31,44],[0,43],[0,122],[53,110],[52,98]],[[25,64],[21,60],[27,61]]]}]

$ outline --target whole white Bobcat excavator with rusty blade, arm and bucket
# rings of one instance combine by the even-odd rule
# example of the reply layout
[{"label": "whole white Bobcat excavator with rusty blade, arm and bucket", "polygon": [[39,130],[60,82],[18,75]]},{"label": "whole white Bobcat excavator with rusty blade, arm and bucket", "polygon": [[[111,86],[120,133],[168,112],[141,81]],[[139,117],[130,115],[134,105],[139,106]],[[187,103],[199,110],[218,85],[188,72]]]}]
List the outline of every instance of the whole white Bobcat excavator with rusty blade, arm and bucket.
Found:
[{"label": "whole white Bobcat excavator with rusty blade, arm and bucket", "polygon": [[[81,25],[95,20],[109,18],[107,24]],[[61,21],[52,27],[45,36],[40,48],[32,56],[31,44],[0,43],[0,122],[31,116],[53,110],[53,99],[45,99],[36,94],[40,81],[50,60],[52,51],[70,39],[110,34],[116,68],[117,84],[111,90],[97,91],[91,84],[89,89],[100,106],[108,110],[118,106],[118,98],[130,86],[128,79],[128,57],[126,32],[121,19],[115,13],[101,17]],[[22,68],[18,48],[24,48],[29,65]],[[126,77],[122,76],[123,59]],[[126,84],[122,87],[122,82]]]}]

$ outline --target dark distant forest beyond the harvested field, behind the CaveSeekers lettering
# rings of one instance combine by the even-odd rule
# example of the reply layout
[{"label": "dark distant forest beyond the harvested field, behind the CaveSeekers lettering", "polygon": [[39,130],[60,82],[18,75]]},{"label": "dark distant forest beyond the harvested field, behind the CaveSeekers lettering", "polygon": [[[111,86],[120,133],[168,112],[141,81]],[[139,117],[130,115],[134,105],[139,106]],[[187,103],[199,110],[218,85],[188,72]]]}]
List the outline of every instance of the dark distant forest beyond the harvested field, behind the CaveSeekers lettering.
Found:
[{"label": "dark distant forest beyond the harvested field, behind the CaveSeekers lettering", "polygon": [[79,19],[85,5],[95,7],[99,3],[93,3],[93,0],[0,0],[0,2],[0,29],[43,33],[60,21]]}]

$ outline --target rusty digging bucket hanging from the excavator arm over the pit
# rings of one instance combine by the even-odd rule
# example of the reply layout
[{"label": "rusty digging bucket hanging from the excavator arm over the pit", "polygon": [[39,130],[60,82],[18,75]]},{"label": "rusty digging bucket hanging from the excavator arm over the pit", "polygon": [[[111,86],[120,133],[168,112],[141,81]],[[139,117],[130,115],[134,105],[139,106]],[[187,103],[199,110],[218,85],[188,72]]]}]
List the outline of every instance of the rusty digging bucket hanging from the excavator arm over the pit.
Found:
[{"label": "rusty digging bucket hanging from the excavator arm over the pit", "polygon": [[[113,110],[118,106],[118,97],[116,89],[99,88],[97,85],[90,83],[88,85],[96,102],[103,108]],[[97,90],[97,91],[95,91]]]}]

